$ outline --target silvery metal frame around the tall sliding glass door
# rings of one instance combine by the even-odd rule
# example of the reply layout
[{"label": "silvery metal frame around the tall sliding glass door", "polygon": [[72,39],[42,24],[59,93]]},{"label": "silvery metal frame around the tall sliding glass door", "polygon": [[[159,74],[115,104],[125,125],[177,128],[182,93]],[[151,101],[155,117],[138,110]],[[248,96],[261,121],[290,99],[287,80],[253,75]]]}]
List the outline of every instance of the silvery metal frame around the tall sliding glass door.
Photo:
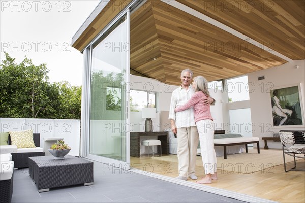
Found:
[{"label": "silvery metal frame around the tall sliding glass door", "polygon": [[[92,50],[93,50],[93,44],[99,40],[105,33],[110,30],[122,17],[126,15],[126,27],[127,27],[127,36],[126,40],[129,42],[129,48],[128,51],[126,51],[126,85],[125,85],[125,90],[126,90],[126,107],[124,111],[126,111],[126,123],[130,123],[130,104],[129,104],[129,91],[130,91],[130,11],[131,7],[137,2],[137,0],[133,0],[130,2],[125,9],[123,9],[103,30],[102,32],[92,41],[90,42],[89,46],[87,46],[84,49],[84,87],[83,87],[83,92],[82,95],[83,97],[82,100],[82,122],[84,123],[82,126],[83,128],[81,129],[81,156],[86,157],[88,159],[96,160],[105,164],[112,165],[114,167],[119,167],[123,168],[124,170],[130,170],[130,130],[126,129],[125,131],[125,154],[126,154],[126,161],[122,160],[116,160],[116,159],[111,159],[107,157],[102,157],[98,155],[92,155],[89,154],[89,136],[90,136],[90,75],[91,75],[91,59],[92,59]],[[127,125],[128,126],[128,125]],[[126,127],[126,126],[125,126]]]}]

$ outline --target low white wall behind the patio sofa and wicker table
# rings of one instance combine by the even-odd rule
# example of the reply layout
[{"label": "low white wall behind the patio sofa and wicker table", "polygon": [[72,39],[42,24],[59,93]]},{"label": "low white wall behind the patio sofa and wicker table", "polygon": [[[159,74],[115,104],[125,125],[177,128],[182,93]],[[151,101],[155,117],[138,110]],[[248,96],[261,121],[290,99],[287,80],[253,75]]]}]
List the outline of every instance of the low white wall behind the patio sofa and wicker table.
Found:
[{"label": "low white wall behind the patio sofa and wicker table", "polygon": [[33,129],[40,133],[40,147],[44,148],[46,138],[63,138],[71,147],[69,155],[79,156],[80,120],[72,119],[35,119],[35,118],[0,118],[1,132]]}]

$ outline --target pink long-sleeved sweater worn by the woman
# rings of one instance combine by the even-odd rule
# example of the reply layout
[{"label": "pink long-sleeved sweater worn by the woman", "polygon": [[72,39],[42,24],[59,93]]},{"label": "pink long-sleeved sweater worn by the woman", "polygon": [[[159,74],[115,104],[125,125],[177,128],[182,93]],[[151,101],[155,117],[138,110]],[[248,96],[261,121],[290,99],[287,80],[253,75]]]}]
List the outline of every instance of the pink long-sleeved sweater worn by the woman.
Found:
[{"label": "pink long-sleeved sweater worn by the woman", "polygon": [[184,111],[184,110],[189,109],[190,107],[194,106],[195,122],[204,120],[204,119],[213,120],[211,111],[210,111],[210,104],[204,105],[203,101],[202,101],[203,98],[207,98],[207,96],[202,91],[195,92],[186,104],[176,107],[175,112]]}]

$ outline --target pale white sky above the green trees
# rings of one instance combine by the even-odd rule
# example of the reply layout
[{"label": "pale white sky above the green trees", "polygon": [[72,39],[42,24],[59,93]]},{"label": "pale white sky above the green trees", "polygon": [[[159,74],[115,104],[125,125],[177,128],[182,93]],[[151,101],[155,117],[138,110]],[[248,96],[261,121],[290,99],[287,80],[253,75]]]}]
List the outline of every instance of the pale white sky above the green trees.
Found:
[{"label": "pale white sky above the green trees", "polygon": [[0,61],[4,53],[20,63],[47,64],[49,82],[82,85],[83,54],[72,37],[99,4],[92,1],[0,0]]}]

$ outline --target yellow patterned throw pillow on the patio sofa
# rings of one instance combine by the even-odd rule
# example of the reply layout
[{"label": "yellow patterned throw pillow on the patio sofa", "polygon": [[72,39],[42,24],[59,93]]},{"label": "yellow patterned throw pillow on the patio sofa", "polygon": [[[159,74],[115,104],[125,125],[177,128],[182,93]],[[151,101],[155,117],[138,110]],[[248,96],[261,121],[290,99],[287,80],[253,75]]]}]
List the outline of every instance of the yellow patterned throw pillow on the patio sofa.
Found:
[{"label": "yellow patterned throw pillow on the patio sofa", "polygon": [[17,145],[17,148],[36,147],[33,140],[33,130],[11,132],[10,136],[11,136],[12,145]]}]

